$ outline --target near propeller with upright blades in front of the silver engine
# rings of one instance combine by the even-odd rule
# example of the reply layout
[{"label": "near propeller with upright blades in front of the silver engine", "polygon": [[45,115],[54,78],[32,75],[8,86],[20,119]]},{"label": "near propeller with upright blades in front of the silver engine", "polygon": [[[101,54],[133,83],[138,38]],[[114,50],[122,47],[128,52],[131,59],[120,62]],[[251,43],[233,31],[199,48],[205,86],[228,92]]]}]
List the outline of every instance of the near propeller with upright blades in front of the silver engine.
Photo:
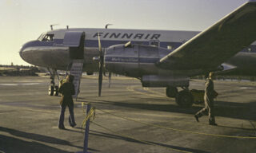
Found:
[{"label": "near propeller with upright blades in front of the silver engine", "polygon": [[98,96],[102,95],[102,77],[103,77],[103,52],[100,35],[98,33],[98,50],[99,50],[99,72],[98,72]]}]

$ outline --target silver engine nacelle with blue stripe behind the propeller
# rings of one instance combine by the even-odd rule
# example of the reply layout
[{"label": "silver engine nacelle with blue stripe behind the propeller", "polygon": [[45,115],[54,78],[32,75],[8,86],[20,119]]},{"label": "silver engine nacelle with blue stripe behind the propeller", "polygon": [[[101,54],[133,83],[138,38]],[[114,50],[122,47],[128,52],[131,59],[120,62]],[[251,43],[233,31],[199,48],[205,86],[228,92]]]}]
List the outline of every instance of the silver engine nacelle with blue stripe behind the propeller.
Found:
[{"label": "silver engine nacelle with blue stripe behind the propeller", "polygon": [[110,72],[142,77],[142,74],[158,74],[155,63],[168,53],[168,49],[150,45],[113,45],[106,49],[104,63]]}]

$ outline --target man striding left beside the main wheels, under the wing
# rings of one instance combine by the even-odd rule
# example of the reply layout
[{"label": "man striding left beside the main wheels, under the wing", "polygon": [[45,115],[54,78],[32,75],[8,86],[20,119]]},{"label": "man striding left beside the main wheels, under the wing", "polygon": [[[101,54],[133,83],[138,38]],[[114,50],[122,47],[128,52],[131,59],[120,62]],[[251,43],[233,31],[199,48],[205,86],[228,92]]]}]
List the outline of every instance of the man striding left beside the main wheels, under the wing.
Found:
[{"label": "man striding left beside the main wheels, under the wing", "polygon": [[210,125],[217,125],[215,123],[215,117],[214,117],[214,98],[217,96],[217,92],[214,91],[214,82],[211,79],[213,77],[214,73],[209,73],[209,77],[206,78],[206,88],[205,88],[205,108],[202,108],[199,112],[197,112],[194,117],[199,122],[198,118],[206,115],[208,112],[209,116],[209,124]]}]

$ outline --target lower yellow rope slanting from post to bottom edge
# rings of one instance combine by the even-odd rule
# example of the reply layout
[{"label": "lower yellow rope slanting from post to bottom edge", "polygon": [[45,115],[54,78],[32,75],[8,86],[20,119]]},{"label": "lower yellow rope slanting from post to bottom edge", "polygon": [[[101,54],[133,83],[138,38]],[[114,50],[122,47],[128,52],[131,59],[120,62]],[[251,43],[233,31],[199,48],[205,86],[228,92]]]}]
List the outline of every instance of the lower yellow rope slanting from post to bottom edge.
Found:
[{"label": "lower yellow rope slanting from post to bottom edge", "polygon": [[138,141],[138,142],[141,142],[141,143],[146,143],[146,144],[154,145],[154,146],[157,146],[157,147],[164,147],[164,148],[166,148],[166,149],[169,149],[170,151],[179,151],[179,152],[191,153],[190,151],[182,151],[182,150],[179,150],[179,149],[174,149],[174,148],[170,148],[170,147],[165,147],[165,146],[162,146],[162,145],[160,145],[160,144],[150,143],[150,142],[148,142],[148,141],[144,141],[144,140],[141,140],[141,139],[136,139],[136,138],[134,138],[134,137],[132,137],[132,136],[124,135],[124,134],[122,134],[122,133],[118,133],[118,132],[116,132],[116,131],[112,131],[112,130],[110,130],[109,128],[103,127],[102,125],[97,124],[97,123],[95,123],[95,122],[92,122],[92,123],[95,124],[95,125],[97,125],[98,127],[104,128],[106,131],[110,131],[110,132],[112,132],[112,133],[114,133],[114,134],[118,134],[119,136],[126,137],[126,138],[128,138],[128,139],[134,139],[134,140],[136,140],[136,141]]}]

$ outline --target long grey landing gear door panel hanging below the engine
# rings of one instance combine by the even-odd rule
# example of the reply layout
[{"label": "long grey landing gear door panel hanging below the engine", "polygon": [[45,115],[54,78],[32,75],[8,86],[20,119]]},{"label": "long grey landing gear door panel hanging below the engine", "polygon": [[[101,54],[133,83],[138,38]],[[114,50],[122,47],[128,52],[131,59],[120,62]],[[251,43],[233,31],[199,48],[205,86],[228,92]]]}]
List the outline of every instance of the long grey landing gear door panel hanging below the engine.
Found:
[{"label": "long grey landing gear door panel hanging below the engine", "polygon": [[145,75],[142,77],[143,87],[188,87],[190,85],[189,77],[181,76],[159,76]]}]

